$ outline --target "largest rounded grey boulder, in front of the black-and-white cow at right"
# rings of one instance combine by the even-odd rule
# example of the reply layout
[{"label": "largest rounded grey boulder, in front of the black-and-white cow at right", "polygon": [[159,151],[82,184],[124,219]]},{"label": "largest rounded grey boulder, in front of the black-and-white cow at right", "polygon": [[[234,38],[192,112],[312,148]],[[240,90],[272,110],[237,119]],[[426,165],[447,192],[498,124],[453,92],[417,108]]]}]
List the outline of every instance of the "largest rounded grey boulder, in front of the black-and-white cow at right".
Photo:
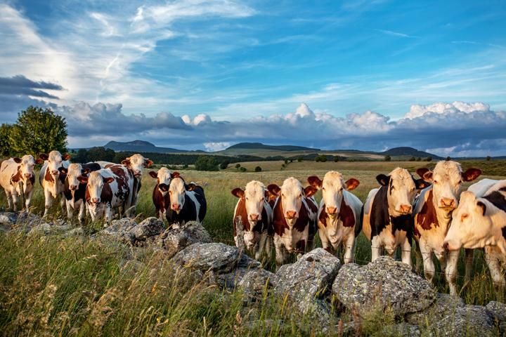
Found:
[{"label": "largest rounded grey boulder, in front of the black-and-white cow at right", "polygon": [[428,308],[436,291],[409,265],[388,256],[368,265],[344,265],[332,284],[332,293],[347,309],[364,317],[370,310],[391,307],[397,316]]}]

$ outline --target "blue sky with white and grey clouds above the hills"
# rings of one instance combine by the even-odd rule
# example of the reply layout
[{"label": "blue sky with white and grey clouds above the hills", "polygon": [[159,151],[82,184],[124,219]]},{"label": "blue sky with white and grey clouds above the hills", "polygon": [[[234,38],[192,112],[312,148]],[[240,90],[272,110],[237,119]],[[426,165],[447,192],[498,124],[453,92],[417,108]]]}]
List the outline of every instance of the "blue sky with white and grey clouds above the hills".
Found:
[{"label": "blue sky with white and grey clouds above the hills", "polygon": [[505,155],[502,1],[0,1],[0,121],[70,145]]}]

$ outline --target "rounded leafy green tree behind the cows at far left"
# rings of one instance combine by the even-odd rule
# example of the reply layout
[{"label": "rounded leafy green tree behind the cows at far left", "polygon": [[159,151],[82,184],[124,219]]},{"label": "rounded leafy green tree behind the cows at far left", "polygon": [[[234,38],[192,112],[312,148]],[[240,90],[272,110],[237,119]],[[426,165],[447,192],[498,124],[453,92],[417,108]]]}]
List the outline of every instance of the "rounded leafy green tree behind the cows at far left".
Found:
[{"label": "rounded leafy green tree behind the cows at far left", "polygon": [[51,109],[30,105],[18,114],[18,120],[11,128],[9,142],[16,154],[67,150],[67,122]]}]

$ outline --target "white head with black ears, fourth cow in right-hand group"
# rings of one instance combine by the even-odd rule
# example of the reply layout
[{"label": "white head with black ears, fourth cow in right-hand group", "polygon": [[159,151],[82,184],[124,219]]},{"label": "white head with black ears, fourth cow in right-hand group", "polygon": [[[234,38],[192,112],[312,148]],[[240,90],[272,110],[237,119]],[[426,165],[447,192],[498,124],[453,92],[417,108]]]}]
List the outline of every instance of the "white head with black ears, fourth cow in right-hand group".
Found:
[{"label": "white head with black ears, fourth cow in right-hand group", "polygon": [[429,186],[423,179],[415,180],[406,169],[398,167],[388,176],[379,174],[376,180],[387,187],[387,200],[391,216],[404,216],[413,213],[413,201],[417,190]]}]

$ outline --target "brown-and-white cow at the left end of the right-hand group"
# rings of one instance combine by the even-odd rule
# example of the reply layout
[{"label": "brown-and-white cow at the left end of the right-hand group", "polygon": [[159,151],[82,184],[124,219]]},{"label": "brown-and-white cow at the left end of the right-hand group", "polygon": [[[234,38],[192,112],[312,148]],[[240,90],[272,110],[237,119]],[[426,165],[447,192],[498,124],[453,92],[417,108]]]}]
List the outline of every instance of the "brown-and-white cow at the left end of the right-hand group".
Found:
[{"label": "brown-and-white cow at the left end of the right-hand group", "polygon": [[238,218],[244,229],[243,240],[249,251],[254,253],[257,260],[266,250],[267,256],[271,257],[271,244],[268,236],[268,228],[271,227],[273,211],[268,204],[268,191],[264,184],[252,180],[242,188],[234,188],[232,194],[238,197],[233,216],[233,235],[235,246],[238,246],[237,222]]}]

